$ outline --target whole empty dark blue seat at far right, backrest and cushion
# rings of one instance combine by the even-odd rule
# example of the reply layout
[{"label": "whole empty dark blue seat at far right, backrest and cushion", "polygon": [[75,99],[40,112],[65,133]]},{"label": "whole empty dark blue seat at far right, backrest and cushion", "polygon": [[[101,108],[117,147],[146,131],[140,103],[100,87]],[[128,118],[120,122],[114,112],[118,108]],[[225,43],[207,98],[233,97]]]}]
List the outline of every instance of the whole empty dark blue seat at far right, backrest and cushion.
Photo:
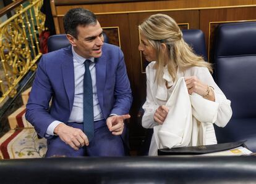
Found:
[{"label": "whole empty dark blue seat at far right, backrest and cushion", "polygon": [[215,127],[218,143],[248,140],[256,151],[256,22],[226,23],[215,40],[216,83],[231,100],[233,117]]}]

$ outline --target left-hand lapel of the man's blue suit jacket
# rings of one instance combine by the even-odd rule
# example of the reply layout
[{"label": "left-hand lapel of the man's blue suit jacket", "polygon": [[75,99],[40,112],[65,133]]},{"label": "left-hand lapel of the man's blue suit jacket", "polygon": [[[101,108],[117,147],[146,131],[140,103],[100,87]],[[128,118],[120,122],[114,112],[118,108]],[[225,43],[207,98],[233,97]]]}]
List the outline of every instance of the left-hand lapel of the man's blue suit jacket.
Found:
[{"label": "left-hand lapel of the man's blue suit jacket", "polygon": [[61,68],[66,94],[69,98],[69,111],[71,112],[75,95],[74,62],[72,55],[72,47],[70,46],[65,51],[66,58],[64,59],[64,62],[62,62]]}]

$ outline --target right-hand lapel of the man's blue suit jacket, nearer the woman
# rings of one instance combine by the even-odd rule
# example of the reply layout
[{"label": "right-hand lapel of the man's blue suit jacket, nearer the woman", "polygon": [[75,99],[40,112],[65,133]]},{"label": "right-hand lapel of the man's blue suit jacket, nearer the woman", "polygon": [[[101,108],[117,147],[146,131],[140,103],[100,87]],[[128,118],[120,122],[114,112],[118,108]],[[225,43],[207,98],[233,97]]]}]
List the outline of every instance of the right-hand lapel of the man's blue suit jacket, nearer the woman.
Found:
[{"label": "right-hand lapel of the man's blue suit jacket, nearer the woman", "polygon": [[[100,103],[101,110],[103,108],[103,94],[106,82],[106,57],[105,55],[101,55],[100,58],[95,58],[96,62],[96,87],[97,87],[97,95]],[[104,113],[103,113],[104,114]]]}]

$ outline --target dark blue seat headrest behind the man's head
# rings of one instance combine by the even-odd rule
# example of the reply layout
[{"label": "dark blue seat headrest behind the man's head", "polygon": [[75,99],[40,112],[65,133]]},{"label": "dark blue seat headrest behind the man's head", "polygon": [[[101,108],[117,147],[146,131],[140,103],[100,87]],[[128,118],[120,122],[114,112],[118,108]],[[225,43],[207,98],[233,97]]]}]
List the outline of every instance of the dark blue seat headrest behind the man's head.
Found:
[{"label": "dark blue seat headrest behind the man's head", "polygon": [[[108,36],[103,33],[104,42],[108,43]],[[70,42],[67,39],[66,34],[55,34],[48,38],[48,52],[52,52],[54,50],[59,50],[64,47],[70,46]]]}]

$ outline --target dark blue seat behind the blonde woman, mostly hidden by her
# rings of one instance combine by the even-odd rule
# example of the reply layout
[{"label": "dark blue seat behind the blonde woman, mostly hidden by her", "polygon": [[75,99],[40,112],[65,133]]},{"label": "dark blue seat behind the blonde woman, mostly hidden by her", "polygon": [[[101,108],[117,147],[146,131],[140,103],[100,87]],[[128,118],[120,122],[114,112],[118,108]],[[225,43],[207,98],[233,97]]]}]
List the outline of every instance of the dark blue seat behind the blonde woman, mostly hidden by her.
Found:
[{"label": "dark blue seat behind the blonde woman, mostly hidden by her", "polygon": [[[182,30],[184,41],[189,44],[194,50],[195,54],[202,56],[207,61],[207,51],[205,47],[205,34],[201,30]],[[147,62],[148,64],[149,62]],[[143,102],[144,103],[144,102]],[[142,104],[143,105],[143,104]],[[140,106],[138,113],[139,118],[142,118],[144,110]],[[153,129],[145,130],[145,140],[143,140],[140,146],[139,154],[147,155],[150,147],[151,137],[153,135]]]}]

